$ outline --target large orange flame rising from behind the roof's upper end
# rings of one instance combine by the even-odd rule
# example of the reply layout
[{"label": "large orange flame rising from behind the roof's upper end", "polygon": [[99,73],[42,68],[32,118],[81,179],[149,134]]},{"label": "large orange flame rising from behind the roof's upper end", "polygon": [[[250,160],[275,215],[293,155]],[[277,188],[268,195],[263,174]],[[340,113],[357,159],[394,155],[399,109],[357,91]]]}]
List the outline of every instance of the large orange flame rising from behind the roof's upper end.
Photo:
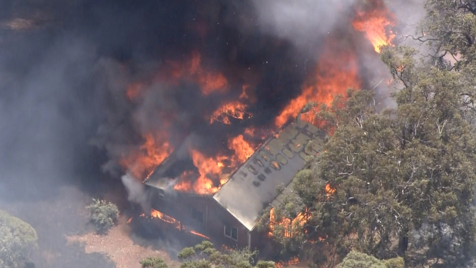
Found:
[{"label": "large orange flame rising from behind the roof's upper end", "polygon": [[[327,39],[315,77],[305,86],[300,96],[292,100],[276,118],[277,127],[295,117],[306,103],[330,104],[336,95],[345,96],[347,89],[358,87],[358,63],[355,53],[336,39]],[[314,122],[314,113],[302,115],[303,120]]]}]

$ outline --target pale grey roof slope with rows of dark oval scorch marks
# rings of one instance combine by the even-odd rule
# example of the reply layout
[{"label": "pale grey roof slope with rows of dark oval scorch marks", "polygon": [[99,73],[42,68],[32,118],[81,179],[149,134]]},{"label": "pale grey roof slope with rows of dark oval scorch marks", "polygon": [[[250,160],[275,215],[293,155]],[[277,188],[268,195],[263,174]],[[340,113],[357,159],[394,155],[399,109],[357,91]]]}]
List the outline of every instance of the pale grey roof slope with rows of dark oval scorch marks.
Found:
[{"label": "pale grey roof slope with rows of dark oval scorch marks", "polygon": [[[295,175],[306,164],[308,155],[315,155],[325,133],[312,124],[294,122],[260,145],[213,198],[248,230],[253,230],[268,206],[282,203],[285,191]],[[312,146],[306,146],[314,138]]]}]

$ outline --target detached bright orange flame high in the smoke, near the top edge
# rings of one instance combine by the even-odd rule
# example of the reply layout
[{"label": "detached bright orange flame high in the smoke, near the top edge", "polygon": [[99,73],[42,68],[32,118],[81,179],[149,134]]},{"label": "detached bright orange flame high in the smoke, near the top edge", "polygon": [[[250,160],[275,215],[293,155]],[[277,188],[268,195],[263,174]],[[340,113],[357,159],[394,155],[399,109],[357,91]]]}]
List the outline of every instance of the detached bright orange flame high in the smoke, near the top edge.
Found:
[{"label": "detached bright orange flame high in the smoke, near the top edge", "polygon": [[381,0],[371,0],[369,7],[358,10],[352,24],[357,31],[365,32],[378,53],[381,46],[391,43],[395,38],[395,35],[388,30],[396,24],[395,15]]}]

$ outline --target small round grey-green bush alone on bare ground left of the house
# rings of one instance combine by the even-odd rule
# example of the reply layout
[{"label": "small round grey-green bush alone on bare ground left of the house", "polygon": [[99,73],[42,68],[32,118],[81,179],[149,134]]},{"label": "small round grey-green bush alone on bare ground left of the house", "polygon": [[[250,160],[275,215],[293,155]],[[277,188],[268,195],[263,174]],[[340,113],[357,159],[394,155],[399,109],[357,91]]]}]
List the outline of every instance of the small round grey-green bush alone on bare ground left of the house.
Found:
[{"label": "small round grey-green bush alone on bare ground left of the house", "polygon": [[118,220],[119,209],[114,203],[93,198],[93,202],[86,206],[86,209],[89,210],[90,221],[96,225],[98,232],[109,231]]}]

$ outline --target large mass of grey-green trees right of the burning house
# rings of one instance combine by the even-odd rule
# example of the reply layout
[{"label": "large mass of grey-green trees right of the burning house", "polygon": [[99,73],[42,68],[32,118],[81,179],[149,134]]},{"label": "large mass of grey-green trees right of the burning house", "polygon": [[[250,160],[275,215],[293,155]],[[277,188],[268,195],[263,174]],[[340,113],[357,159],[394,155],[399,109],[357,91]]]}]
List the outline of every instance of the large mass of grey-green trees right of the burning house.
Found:
[{"label": "large mass of grey-green trees right of the burning house", "polygon": [[[300,240],[409,265],[462,267],[476,238],[476,2],[428,0],[420,24],[428,47],[387,46],[381,59],[398,86],[395,108],[349,91],[317,121],[333,135],[300,171],[284,215],[307,207]],[[346,100],[346,101],[344,101]],[[326,194],[326,185],[335,189]],[[302,204],[302,205],[301,205]],[[290,240],[283,236],[281,240]]]}]

